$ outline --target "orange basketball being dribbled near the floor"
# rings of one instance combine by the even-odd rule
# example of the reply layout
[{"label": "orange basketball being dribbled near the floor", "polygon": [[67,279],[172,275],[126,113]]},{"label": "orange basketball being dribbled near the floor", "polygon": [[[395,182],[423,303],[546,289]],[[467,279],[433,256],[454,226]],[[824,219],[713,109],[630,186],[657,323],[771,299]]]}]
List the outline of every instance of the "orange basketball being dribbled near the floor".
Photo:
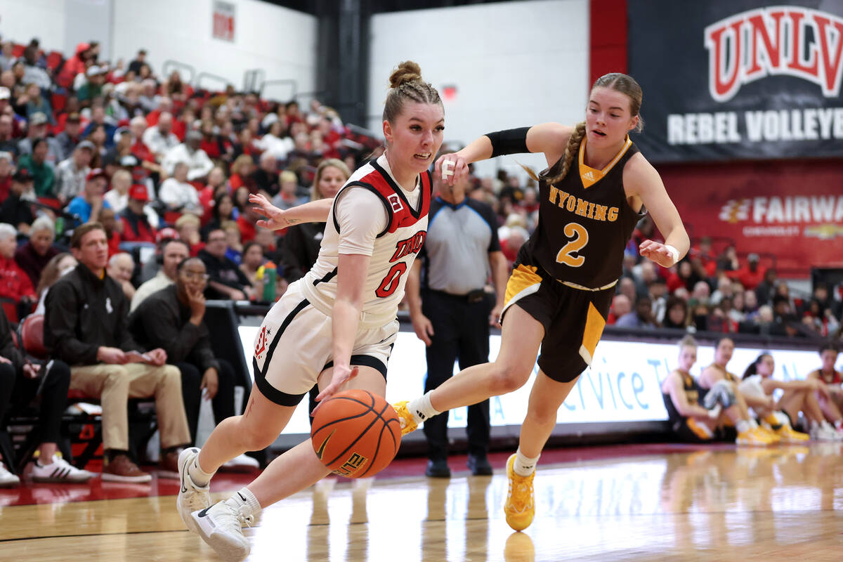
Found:
[{"label": "orange basketball being dribbled near the floor", "polygon": [[310,428],[316,456],[334,474],[373,476],[389,464],[401,443],[395,409],[367,390],[346,390],[325,400]]}]

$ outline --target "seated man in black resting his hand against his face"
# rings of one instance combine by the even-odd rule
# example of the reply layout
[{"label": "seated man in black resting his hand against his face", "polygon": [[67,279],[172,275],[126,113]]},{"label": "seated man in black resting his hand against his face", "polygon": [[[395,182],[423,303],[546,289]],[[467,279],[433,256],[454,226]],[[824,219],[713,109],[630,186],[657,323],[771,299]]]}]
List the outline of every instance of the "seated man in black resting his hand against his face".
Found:
[{"label": "seated man in black resting his hand against his face", "polygon": [[[196,442],[202,393],[212,400],[217,424],[234,415],[234,368],[214,357],[205,317],[207,270],[199,258],[187,258],[176,267],[175,285],[145,298],[129,317],[129,331],[146,347],[161,347],[167,361],[179,367],[181,394],[185,401],[191,442]],[[228,467],[258,468],[250,457],[240,455]]]}]

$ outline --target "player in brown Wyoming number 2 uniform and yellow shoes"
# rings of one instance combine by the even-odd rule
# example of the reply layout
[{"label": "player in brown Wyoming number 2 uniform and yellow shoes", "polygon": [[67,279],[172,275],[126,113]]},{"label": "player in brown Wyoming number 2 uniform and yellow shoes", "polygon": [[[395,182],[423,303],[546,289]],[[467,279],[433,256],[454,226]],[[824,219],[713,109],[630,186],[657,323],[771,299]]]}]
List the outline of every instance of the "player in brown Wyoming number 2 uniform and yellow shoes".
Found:
[{"label": "player in brown Wyoming number 2 uniform and yellow shoes", "polygon": [[636,222],[649,211],[665,236],[665,244],[646,240],[639,247],[659,265],[674,265],[690,245],[662,179],[629,138],[642,127],[641,104],[641,87],[633,78],[606,74],[594,83],[585,120],[577,126],[545,123],[497,131],[437,162],[437,174],[448,182],[468,174],[469,163],[502,154],[545,153],[548,164],[540,174],[538,227],[507,283],[497,360],[396,404],[409,432],[446,409],[512,392],[529,380],[541,346],[518,452],[507,461],[504,511],[516,530],[533,520],[535,464],[556,426],[557,410],[591,364]]}]

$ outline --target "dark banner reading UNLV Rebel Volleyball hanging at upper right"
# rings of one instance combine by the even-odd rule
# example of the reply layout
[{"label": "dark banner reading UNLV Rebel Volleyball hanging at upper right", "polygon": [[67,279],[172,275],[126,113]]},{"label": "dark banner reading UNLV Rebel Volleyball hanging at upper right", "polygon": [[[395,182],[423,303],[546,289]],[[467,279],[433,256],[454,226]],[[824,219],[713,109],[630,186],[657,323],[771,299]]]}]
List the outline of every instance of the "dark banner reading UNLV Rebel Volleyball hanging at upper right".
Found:
[{"label": "dark banner reading UNLV Rebel Volleyball hanging at upper right", "polygon": [[627,7],[647,159],[843,156],[843,2]]}]

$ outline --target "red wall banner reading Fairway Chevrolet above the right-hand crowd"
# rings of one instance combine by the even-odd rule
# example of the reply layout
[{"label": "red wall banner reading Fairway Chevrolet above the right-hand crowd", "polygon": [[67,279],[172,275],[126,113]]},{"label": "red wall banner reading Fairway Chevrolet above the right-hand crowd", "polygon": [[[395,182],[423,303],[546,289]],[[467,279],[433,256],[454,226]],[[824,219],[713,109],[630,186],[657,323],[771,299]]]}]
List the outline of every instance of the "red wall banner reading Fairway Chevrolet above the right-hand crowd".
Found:
[{"label": "red wall banner reading Fairway Chevrolet above the right-hand crowd", "polygon": [[843,266],[840,161],[662,166],[693,238],[731,238],[738,253],[775,256],[783,273]]}]

